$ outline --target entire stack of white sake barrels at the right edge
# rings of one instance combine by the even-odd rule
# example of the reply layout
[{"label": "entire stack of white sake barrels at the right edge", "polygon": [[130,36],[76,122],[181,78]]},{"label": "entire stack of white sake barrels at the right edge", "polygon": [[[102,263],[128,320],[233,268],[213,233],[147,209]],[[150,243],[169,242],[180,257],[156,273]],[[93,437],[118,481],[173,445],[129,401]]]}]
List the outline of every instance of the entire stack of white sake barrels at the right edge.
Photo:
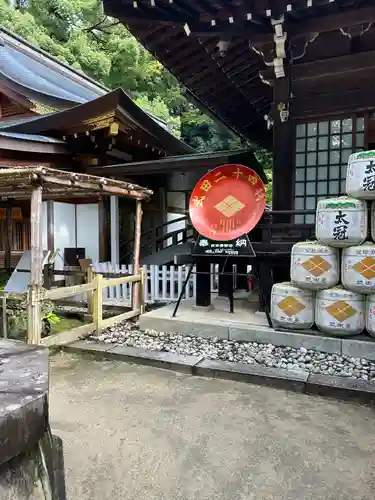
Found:
[{"label": "entire stack of white sake barrels at the right edge", "polygon": [[[369,241],[369,201],[375,200],[375,151],[349,158],[348,196],[321,200],[316,242],[294,245],[291,282],[272,289],[274,324],[336,336],[375,336],[375,244]],[[375,241],[375,202],[371,205]]]}]

